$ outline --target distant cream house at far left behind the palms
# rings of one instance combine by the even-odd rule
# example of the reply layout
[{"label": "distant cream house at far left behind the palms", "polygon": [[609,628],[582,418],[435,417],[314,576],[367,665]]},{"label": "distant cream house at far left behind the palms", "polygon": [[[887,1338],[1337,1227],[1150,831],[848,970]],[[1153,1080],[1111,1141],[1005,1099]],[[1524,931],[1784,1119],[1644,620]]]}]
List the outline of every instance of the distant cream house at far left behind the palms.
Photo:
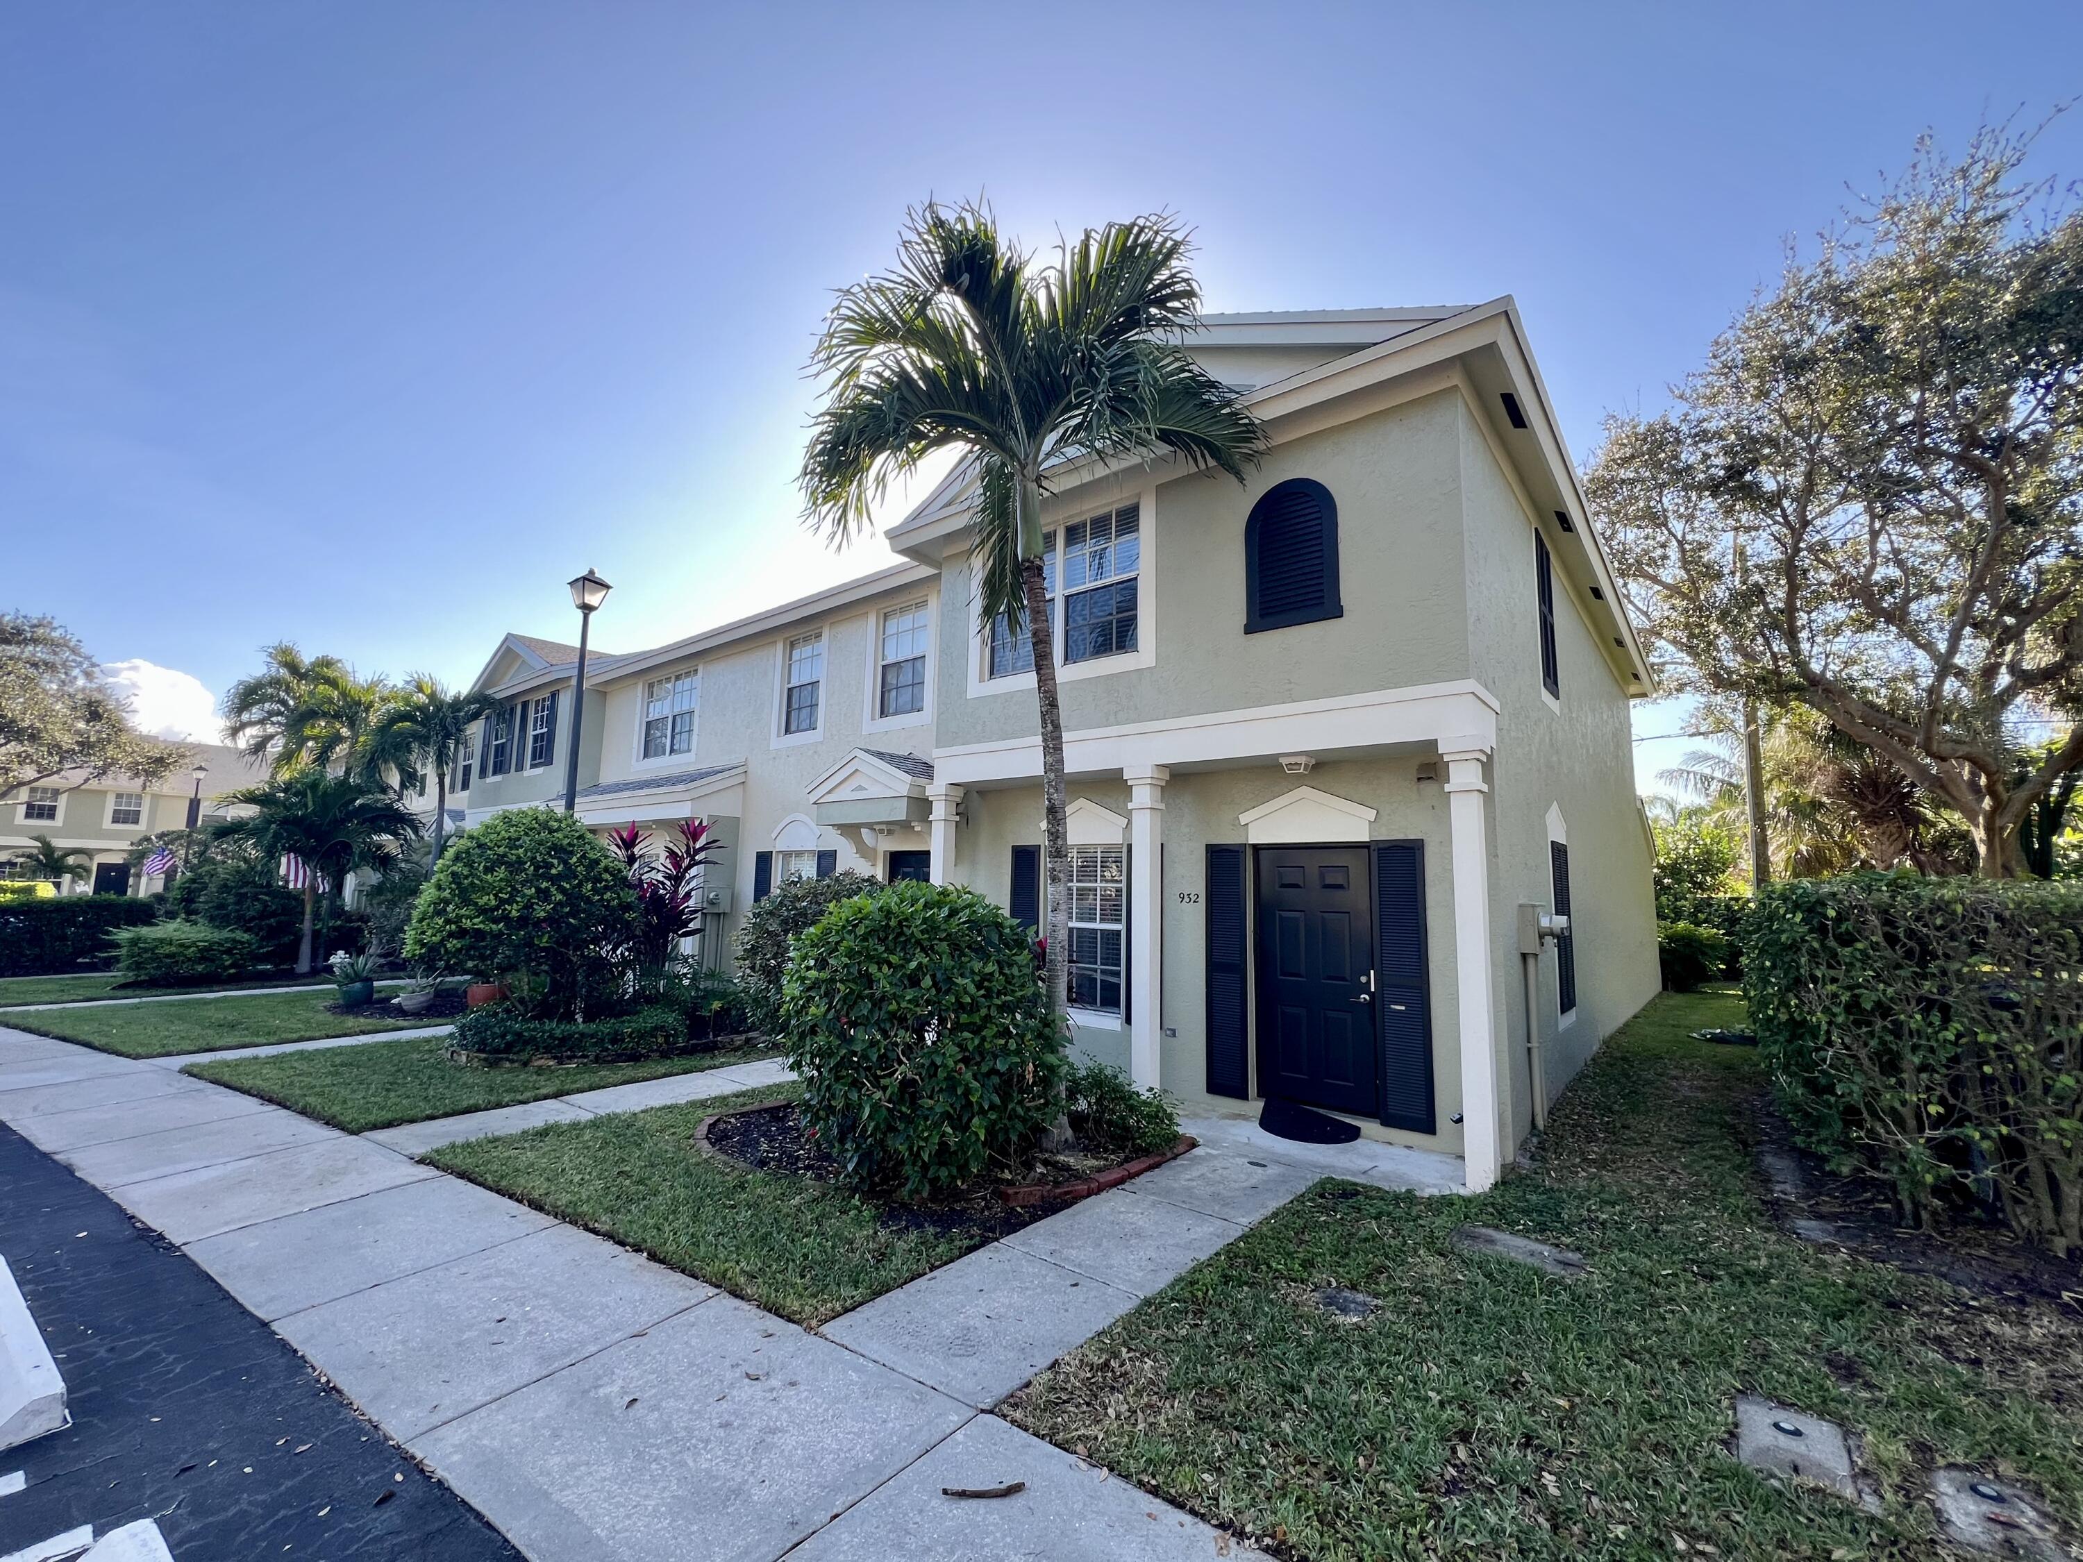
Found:
[{"label": "distant cream house at far left behind the palms", "polygon": [[[223,818],[221,798],[267,779],[267,764],[221,744],[187,744],[194,758],[165,781],[142,785],[129,777],[87,781],[67,771],[33,787],[0,796],[0,877],[12,877],[15,858],[48,835],[54,846],[87,852],[87,879],[58,885],[58,893],[150,896],[165,879],[146,877],[131,854],[140,839],[185,829],[190,806],[204,823]],[[202,769],[202,777],[194,771]]]}]

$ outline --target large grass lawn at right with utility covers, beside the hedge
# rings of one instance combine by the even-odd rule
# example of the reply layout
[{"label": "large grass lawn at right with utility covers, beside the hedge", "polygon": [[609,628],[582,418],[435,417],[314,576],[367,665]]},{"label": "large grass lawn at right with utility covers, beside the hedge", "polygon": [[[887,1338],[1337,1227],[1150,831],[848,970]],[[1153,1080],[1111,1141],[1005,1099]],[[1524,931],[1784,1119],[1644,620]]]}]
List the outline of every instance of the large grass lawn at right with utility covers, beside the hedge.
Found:
[{"label": "large grass lawn at right with utility covers, beside the hedge", "polygon": [[[1475,1200],[1319,1183],[1044,1372],[1010,1420],[1283,1558],[1925,1558],[1923,1475],[2083,1518],[2083,1329],[1783,1235],[1752,1170],[1758,1058],[1660,998],[1558,1104],[1533,1173]],[[1548,1279],[1448,1241],[1585,1254]],[[1344,1285],[1383,1302],[1323,1312]],[[1862,1433],[1877,1516],[1729,1450],[1758,1391]]]}]

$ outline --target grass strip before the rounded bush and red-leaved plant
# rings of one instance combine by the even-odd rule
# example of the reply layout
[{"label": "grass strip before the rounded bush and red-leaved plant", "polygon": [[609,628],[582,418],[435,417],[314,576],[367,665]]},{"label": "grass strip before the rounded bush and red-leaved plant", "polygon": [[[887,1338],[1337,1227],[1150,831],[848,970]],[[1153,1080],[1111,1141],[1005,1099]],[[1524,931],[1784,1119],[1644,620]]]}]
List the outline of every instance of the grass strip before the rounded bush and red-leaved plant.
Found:
[{"label": "grass strip before the rounded bush and red-leaved plant", "polygon": [[581,1089],[633,1085],[639,1079],[692,1075],[702,1068],[723,1068],[771,1056],[767,1052],[704,1052],[692,1058],[575,1064],[569,1068],[471,1068],[448,1062],[442,1056],[444,1048],[444,1037],[427,1035],[404,1041],[369,1041],[358,1048],[283,1052],[273,1058],[192,1062],[183,1073],[231,1085],[248,1095],[260,1095],[348,1133],[367,1133],[398,1123],[425,1123],[433,1116],[483,1112],[492,1106],[519,1106],[550,1095],[573,1095]]}]

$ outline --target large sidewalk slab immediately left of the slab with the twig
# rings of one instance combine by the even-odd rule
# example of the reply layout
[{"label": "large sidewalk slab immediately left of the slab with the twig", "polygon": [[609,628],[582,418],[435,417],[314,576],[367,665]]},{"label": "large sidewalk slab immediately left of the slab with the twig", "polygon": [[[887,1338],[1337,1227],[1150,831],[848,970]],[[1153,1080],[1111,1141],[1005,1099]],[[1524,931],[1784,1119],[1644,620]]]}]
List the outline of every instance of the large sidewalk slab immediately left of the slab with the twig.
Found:
[{"label": "large sidewalk slab immediately left of the slab with the twig", "polygon": [[533,1562],[771,1562],[969,1416],[719,1295],[412,1452]]}]

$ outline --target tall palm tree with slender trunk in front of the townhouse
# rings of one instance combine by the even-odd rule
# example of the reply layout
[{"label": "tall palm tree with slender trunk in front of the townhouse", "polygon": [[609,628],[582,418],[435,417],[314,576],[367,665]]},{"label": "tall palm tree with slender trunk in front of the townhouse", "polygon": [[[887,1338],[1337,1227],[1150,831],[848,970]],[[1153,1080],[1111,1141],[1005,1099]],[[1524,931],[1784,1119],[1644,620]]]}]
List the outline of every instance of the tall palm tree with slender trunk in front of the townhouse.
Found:
[{"label": "tall palm tree with slender trunk in front of the townhouse", "polygon": [[1264,431],[1187,356],[1200,285],[1171,217],[1087,229],[1035,264],[983,206],[906,212],[898,264],[839,292],[812,367],[831,387],[802,489],[837,544],[871,527],[889,483],[942,450],[969,458],[977,612],[1033,637],[1048,864],[1048,998],[1062,1012],[1069,950],[1062,710],[1044,587],[1042,502],[1066,467],[1175,454],[1244,481]]}]

